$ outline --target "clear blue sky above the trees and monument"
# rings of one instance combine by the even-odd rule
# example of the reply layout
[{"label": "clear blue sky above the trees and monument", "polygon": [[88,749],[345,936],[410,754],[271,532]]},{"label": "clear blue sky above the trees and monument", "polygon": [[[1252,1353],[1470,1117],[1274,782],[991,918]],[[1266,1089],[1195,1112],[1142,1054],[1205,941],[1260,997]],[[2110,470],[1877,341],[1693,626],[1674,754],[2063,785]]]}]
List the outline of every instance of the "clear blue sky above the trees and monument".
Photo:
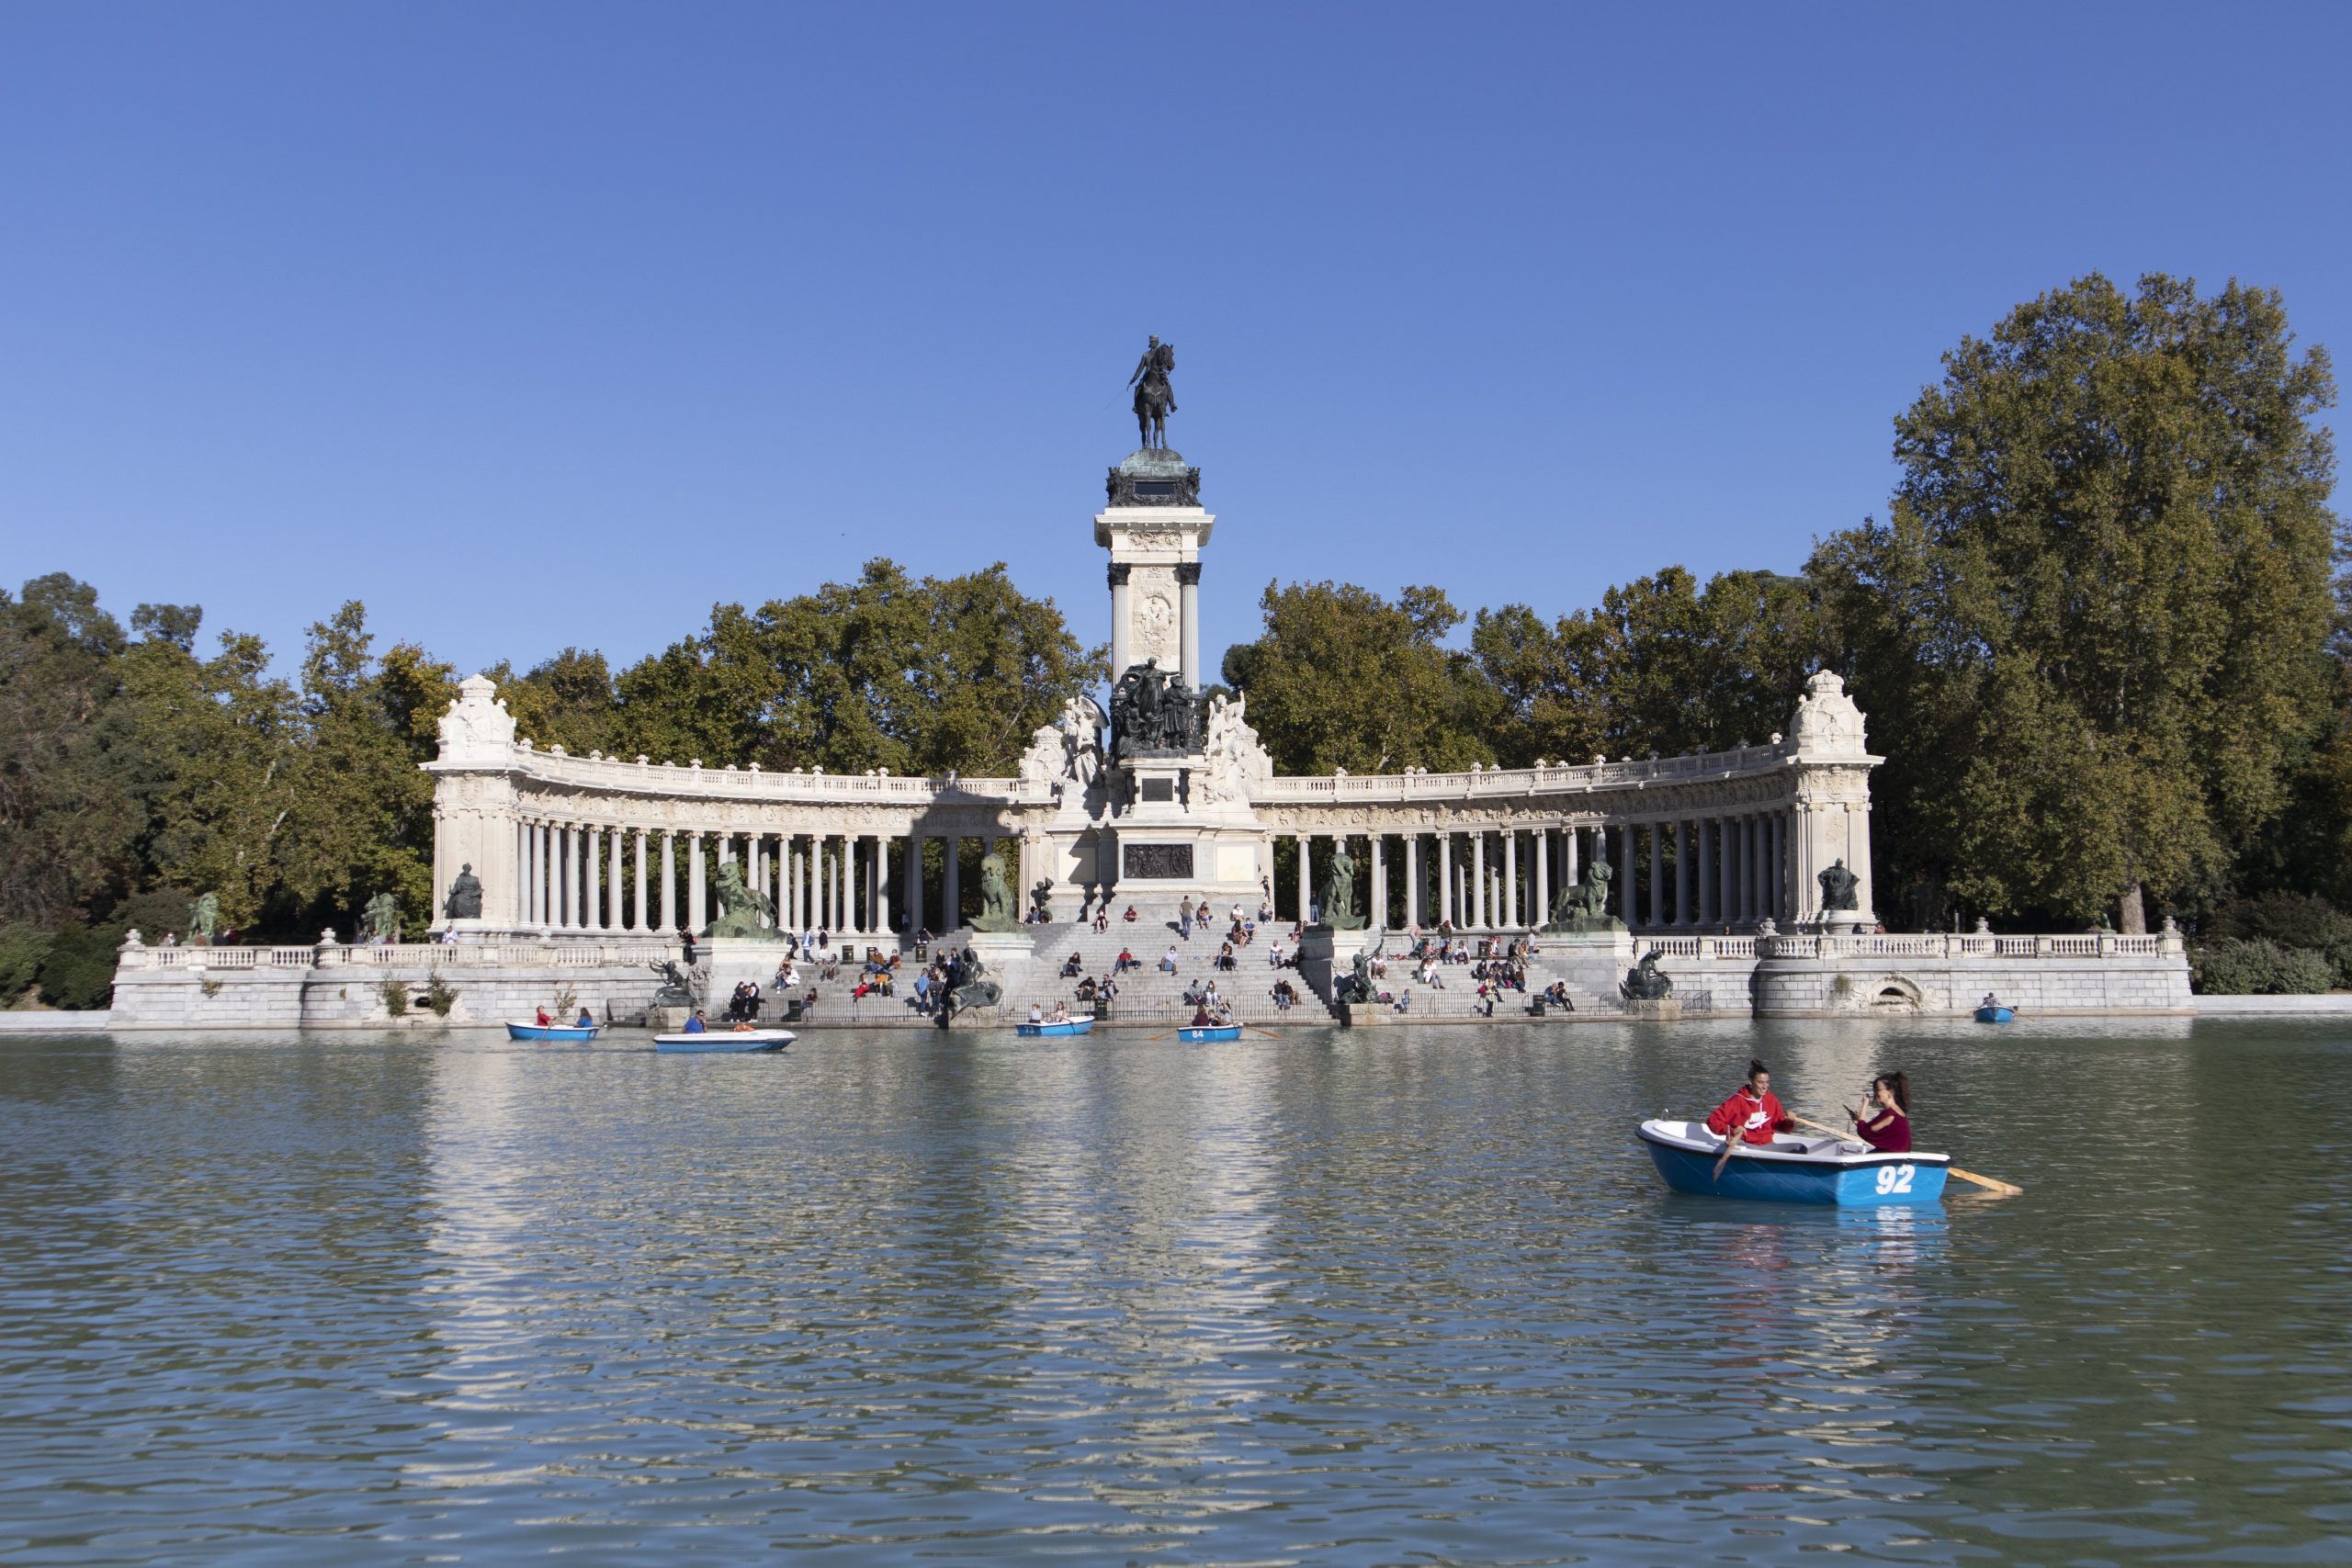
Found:
[{"label": "clear blue sky above the trees and monument", "polygon": [[2345,7],[0,7],[0,578],[616,665],[870,555],[1103,639],[1124,381],[1268,578],[1590,604],[1884,510],[2086,270],[2352,343]]}]

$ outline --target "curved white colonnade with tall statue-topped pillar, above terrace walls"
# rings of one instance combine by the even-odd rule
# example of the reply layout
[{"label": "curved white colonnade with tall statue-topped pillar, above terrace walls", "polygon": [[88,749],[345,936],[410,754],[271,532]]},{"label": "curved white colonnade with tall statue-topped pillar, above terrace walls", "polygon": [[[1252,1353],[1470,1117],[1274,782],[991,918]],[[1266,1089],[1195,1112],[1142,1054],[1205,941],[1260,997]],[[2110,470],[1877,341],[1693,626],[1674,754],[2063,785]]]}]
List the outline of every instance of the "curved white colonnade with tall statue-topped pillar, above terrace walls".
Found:
[{"label": "curved white colonnade with tall statue-topped pillar, above terrace walls", "polygon": [[[1202,703],[1200,590],[1216,517],[1202,470],[1167,444],[1174,346],[1134,374],[1141,447],[1105,482],[1110,708],[1089,701],[1035,733],[1014,778],[767,773],[677,759],[564,757],[513,733],[482,677],[442,719],[435,884],[470,865],[482,910],[459,936],[703,931],[731,863],[790,929],[953,931],[1051,919],[1098,903],[1155,919],[1211,907],[1327,905],[1348,929],[1531,931],[1588,900],[1632,931],[1870,929],[1870,766],[1863,715],[1816,675],[1788,736],[1698,757],[1534,769],[1284,778],[1247,719],[1247,693]],[[922,839],[948,839],[938,886]],[[1298,889],[1272,886],[1277,837]],[[1002,856],[1014,907],[960,886],[955,846]],[[1331,863],[1367,867],[1352,907]],[[1823,872],[1832,865],[1828,889]],[[1844,877],[1851,867],[1851,877]],[[1317,875],[1324,872],[1324,875]],[[1049,884],[1049,886],[1044,886]],[[1573,896],[1571,896],[1573,891]],[[1303,898],[1301,898],[1303,896]],[[1844,907],[1823,910],[1823,898]],[[1164,905],[1164,907],[1162,907]]]}]

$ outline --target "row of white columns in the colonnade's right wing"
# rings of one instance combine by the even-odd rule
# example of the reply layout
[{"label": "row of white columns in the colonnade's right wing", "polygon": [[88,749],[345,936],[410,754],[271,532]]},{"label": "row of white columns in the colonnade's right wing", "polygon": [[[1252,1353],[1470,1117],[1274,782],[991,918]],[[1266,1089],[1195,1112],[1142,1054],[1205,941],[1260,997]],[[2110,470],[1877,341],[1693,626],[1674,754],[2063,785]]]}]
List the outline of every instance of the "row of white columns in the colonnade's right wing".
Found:
[{"label": "row of white columns in the colonnade's right wing", "polygon": [[[1303,919],[1322,900],[1315,842],[1298,844]],[[1388,884],[1390,839],[1402,839],[1402,898]],[[1470,827],[1461,832],[1371,835],[1371,907],[1376,926],[1454,924],[1468,931],[1543,926],[1552,891],[1583,879],[1595,858],[1609,860],[1609,907],[1644,931],[1752,926],[1797,912],[1790,886],[1790,813],[1743,811],[1649,823]]]}]

